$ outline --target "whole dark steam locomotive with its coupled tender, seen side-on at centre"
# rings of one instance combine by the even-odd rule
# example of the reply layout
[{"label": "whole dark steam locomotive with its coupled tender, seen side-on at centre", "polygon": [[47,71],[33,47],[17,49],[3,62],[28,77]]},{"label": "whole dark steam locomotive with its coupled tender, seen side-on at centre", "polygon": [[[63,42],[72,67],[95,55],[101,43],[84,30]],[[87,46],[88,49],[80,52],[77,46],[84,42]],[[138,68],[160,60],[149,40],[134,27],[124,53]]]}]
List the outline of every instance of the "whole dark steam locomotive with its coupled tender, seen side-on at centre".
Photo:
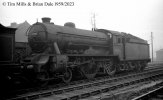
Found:
[{"label": "whole dark steam locomotive with its coupled tender, seen side-on at centre", "polygon": [[150,61],[147,41],[131,34],[77,29],[71,22],[59,26],[47,17],[42,20],[27,31],[32,54],[24,60],[41,81],[59,77],[70,82],[76,75],[90,79],[96,74],[143,70]]}]

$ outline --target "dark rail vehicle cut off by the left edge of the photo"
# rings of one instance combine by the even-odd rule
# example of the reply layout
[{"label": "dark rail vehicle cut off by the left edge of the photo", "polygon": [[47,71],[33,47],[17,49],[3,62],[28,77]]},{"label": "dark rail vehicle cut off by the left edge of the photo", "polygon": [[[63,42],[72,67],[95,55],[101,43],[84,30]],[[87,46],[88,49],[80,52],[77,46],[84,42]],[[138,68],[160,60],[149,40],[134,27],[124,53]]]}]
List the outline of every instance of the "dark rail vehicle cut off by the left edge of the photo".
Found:
[{"label": "dark rail vehicle cut off by the left edge of the photo", "polygon": [[15,31],[16,28],[8,28],[0,24],[1,93],[6,92],[4,91],[6,89],[5,85],[9,88],[10,76],[16,76],[14,73],[17,72],[17,69],[21,69],[21,65],[15,63]]}]

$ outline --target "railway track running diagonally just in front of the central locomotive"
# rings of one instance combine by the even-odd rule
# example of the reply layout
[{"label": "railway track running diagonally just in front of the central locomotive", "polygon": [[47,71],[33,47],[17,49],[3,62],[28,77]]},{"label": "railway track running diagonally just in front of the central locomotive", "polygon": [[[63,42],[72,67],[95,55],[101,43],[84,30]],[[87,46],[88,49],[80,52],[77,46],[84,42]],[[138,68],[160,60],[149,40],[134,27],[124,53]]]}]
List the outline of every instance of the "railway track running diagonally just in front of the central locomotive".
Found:
[{"label": "railway track running diagonally just in front of the central locomotive", "polygon": [[66,86],[59,86],[59,88],[52,88],[40,90],[37,92],[27,93],[24,95],[17,95],[10,100],[68,100],[68,99],[83,99],[94,95],[103,94],[108,91],[113,91],[118,88],[143,83],[155,80],[157,77],[162,76],[163,69],[156,68],[145,70],[144,72],[134,73],[124,76],[116,76],[113,78],[104,77],[92,81],[76,81]]}]

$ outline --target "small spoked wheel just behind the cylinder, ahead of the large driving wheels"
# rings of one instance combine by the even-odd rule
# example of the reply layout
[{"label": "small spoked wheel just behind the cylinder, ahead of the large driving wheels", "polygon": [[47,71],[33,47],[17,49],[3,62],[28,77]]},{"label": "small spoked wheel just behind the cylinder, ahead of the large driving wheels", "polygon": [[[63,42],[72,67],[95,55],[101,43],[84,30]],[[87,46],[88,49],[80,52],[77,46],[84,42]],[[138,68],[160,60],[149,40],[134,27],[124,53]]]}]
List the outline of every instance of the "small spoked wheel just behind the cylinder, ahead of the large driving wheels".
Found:
[{"label": "small spoked wheel just behind the cylinder, ahead of the large driving wheels", "polygon": [[63,74],[62,80],[65,83],[69,83],[72,79],[72,70],[67,68],[66,72]]}]

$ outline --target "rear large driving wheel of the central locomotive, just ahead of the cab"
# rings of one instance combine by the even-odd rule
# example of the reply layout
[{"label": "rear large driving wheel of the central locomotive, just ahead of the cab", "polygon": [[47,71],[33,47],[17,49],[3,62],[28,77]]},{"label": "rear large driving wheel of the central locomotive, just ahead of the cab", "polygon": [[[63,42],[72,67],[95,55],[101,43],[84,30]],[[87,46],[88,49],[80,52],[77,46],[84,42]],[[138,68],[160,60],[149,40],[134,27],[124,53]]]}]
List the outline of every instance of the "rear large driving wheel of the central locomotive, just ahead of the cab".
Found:
[{"label": "rear large driving wheel of the central locomotive, just ahead of the cab", "polygon": [[112,75],[115,74],[115,72],[116,72],[116,66],[113,64],[112,61],[106,62],[106,63],[104,64],[104,66],[105,66],[105,67],[104,67],[105,72],[106,72],[108,75],[112,76]]}]

